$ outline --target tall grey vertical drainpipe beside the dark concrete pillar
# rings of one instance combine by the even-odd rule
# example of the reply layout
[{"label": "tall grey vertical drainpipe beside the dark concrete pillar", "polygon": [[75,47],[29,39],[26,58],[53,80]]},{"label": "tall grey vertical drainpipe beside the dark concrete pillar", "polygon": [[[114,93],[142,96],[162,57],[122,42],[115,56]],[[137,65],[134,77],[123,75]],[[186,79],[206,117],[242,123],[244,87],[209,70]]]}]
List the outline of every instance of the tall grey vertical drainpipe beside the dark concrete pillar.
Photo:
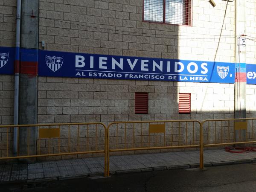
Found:
[{"label": "tall grey vertical drainpipe beside the dark concrete pillar", "polygon": [[[16,43],[15,43],[15,81],[14,81],[14,120],[13,124],[18,125],[19,117],[19,81],[20,81],[20,16],[21,16],[21,0],[17,0],[16,15]],[[13,153],[17,156],[18,151],[18,128],[13,130]]]}]

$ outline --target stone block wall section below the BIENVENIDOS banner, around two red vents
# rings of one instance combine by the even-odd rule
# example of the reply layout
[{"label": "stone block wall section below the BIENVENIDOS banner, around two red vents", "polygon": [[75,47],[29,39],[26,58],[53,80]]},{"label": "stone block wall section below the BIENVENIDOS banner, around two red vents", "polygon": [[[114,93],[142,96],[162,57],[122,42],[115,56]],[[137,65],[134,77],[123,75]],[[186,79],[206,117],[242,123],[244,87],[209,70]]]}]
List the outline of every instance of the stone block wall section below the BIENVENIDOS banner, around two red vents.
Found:
[{"label": "stone block wall section below the BIENVENIDOS banner, around two red vents", "polygon": [[[148,114],[134,113],[135,92],[148,92]],[[191,93],[191,114],[179,114],[178,93]],[[115,121],[224,119],[233,118],[233,103],[234,84],[52,77],[38,79],[38,123],[103,122],[108,125]],[[179,126],[182,131],[180,134]],[[110,128],[111,148],[125,147],[125,138],[126,147],[133,146],[132,127],[127,129],[127,137],[124,137],[124,128],[125,125],[119,125],[118,131],[116,126]],[[177,145],[179,141],[185,144],[186,140],[189,144],[192,144],[192,140],[198,143],[198,125],[195,125],[195,132],[189,125],[187,135],[185,124],[173,128],[171,133],[171,127],[166,127],[166,141],[169,144],[171,141],[172,145]],[[142,146],[148,146],[148,140],[152,141],[151,146],[165,143],[163,134],[157,136],[158,142],[156,136],[151,135],[151,139],[148,137],[148,124],[143,124],[143,138],[140,137],[140,125],[136,125],[134,131],[137,147],[141,145],[141,139]],[[232,134],[231,129],[229,134]],[[77,140],[76,137],[73,139]],[[61,147],[67,146],[64,143]],[[90,147],[95,148],[93,145]],[[47,144],[41,145],[41,148],[47,151]],[[77,150],[74,147],[72,149]]]}]

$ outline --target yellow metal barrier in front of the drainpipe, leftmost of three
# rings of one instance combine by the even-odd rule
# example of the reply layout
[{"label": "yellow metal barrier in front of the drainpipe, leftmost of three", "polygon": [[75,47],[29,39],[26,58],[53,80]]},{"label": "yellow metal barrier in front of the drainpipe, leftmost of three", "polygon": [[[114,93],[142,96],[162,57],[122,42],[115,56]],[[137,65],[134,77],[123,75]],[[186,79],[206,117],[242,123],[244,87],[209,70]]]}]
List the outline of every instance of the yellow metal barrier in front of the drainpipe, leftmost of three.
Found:
[{"label": "yellow metal barrier in front of the drainpipe, leftmost of three", "polygon": [[[20,129],[26,131],[26,145],[21,148],[17,142],[17,156],[13,155],[13,129],[17,128],[18,136]],[[30,140],[31,129],[38,128],[37,146],[33,146]],[[105,155],[105,176],[107,176],[107,128],[103,123],[57,123],[37,125],[1,125],[2,149],[0,160],[32,158],[32,157],[53,157],[62,155],[79,155],[104,153]],[[6,134],[6,141],[3,141],[3,133]],[[18,137],[18,140],[20,138]],[[32,154],[31,148],[36,148],[36,154]],[[26,150],[24,151],[24,148]],[[33,150],[35,151],[35,150]],[[34,152],[33,152],[34,153]]]}]

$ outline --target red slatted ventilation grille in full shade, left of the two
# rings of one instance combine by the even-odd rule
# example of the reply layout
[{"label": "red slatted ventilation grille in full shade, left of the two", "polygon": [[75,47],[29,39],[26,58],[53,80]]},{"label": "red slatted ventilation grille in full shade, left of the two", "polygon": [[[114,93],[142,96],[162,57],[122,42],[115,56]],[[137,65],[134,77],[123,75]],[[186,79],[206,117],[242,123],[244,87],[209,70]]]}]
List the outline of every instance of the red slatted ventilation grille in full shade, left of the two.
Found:
[{"label": "red slatted ventilation grille in full shade, left of the two", "polygon": [[148,93],[135,93],[135,114],[148,114]]}]

